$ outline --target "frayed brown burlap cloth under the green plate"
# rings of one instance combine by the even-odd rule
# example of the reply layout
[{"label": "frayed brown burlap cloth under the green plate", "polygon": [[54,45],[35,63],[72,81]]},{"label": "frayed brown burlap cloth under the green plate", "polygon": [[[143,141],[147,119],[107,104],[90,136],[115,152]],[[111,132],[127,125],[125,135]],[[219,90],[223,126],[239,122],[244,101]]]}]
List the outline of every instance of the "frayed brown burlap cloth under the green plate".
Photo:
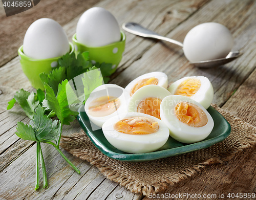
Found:
[{"label": "frayed brown burlap cloth under the green plate", "polygon": [[159,159],[131,163],[111,159],[101,153],[81,130],[63,137],[61,146],[76,157],[95,165],[111,181],[135,193],[160,193],[167,187],[197,173],[202,167],[230,160],[234,153],[256,143],[256,127],[212,105],[231,125],[231,134],[206,149]]}]

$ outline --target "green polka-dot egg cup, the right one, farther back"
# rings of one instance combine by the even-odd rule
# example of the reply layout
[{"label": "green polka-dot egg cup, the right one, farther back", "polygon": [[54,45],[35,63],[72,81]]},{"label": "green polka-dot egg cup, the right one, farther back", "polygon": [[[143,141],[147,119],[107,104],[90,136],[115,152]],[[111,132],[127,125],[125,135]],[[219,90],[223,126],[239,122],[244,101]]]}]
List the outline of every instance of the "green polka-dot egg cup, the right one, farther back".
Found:
[{"label": "green polka-dot egg cup, the right one, farther back", "polygon": [[122,54],[125,48],[125,39],[126,36],[123,31],[121,32],[121,39],[118,42],[111,43],[110,45],[101,46],[101,47],[89,47],[86,45],[83,45],[82,43],[78,42],[76,39],[76,33],[73,35],[72,40],[74,44],[74,49],[76,55],[78,52],[89,52],[89,58],[94,62],[105,62],[105,63],[111,63],[113,71],[111,73],[114,73],[117,69],[117,66],[119,62],[122,59]]}]

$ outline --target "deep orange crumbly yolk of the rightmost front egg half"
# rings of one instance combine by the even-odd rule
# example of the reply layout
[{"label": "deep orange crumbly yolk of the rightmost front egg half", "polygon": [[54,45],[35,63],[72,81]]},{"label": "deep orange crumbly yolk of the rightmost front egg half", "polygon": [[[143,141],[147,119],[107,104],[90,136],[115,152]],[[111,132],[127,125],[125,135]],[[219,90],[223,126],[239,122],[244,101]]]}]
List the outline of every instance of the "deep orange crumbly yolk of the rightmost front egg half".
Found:
[{"label": "deep orange crumbly yolk of the rightmost front egg half", "polygon": [[207,124],[208,118],[202,108],[195,104],[180,102],[175,106],[177,118],[192,127],[202,127]]}]

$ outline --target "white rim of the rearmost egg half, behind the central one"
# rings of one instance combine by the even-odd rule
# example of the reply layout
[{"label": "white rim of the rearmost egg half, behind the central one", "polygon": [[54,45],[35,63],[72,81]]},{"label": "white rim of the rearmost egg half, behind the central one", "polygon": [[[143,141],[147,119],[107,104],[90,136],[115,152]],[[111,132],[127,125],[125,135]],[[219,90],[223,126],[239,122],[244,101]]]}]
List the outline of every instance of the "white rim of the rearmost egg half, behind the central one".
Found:
[{"label": "white rim of the rearmost egg half, behind the central one", "polygon": [[158,79],[158,83],[157,85],[159,86],[162,86],[164,87],[165,89],[167,88],[168,86],[168,77],[165,73],[163,72],[151,72],[151,73],[147,73],[147,74],[143,74],[139,77],[137,77],[136,79],[134,79],[133,81],[131,81],[126,87],[125,87],[125,90],[128,91],[128,93],[130,94],[133,86],[139,81],[139,80],[142,80],[142,79],[145,79],[145,78],[151,78],[151,77],[155,77]]}]

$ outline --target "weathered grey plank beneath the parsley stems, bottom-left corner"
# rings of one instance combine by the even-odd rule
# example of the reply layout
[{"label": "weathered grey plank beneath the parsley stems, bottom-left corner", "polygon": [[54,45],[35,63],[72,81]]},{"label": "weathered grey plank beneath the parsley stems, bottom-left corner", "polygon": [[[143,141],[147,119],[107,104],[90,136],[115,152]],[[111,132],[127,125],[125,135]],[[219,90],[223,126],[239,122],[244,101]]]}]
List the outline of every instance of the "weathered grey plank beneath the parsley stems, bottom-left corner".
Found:
[{"label": "weathered grey plank beneath the parsley stems, bottom-left corner", "polygon": [[[79,180],[88,171],[88,168],[91,167],[89,163],[63,152],[81,170],[79,175],[68,165],[53,146],[49,144],[41,144],[41,146],[47,168],[49,188],[51,189],[42,188],[42,179],[40,179],[39,191],[34,191],[36,145],[33,145],[22,157],[17,158],[0,173],[1,183],[4,183],[0,188],[3,198],[14,199],[26,196],[26,199],[49,199],[54,196],[63,184],[68,181],[72,182],[73,180],[74,182],[74,180]],[[13,172],[17,171],[19,173],[13,175]]]}]

